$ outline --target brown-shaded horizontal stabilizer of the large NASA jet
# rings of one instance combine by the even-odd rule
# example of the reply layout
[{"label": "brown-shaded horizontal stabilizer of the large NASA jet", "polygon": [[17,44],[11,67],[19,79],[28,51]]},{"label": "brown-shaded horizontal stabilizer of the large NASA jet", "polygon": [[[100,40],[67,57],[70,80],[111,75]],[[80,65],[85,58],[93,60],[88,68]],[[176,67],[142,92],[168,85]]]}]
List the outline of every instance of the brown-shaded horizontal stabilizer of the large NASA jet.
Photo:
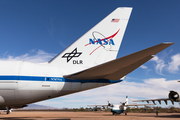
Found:
[{"label": "brown-shaded horizontal stabilizer of the large NASA jet", "polygon": [[156,46],[141,50],[139,52],[112,60],[110,62],[83,70],[70,75],[64,75],[67,79],[92,80],[109,79],[119,80],[132,72],[151,58],[153,55],[169,47],[173,43],[161,43]]}]

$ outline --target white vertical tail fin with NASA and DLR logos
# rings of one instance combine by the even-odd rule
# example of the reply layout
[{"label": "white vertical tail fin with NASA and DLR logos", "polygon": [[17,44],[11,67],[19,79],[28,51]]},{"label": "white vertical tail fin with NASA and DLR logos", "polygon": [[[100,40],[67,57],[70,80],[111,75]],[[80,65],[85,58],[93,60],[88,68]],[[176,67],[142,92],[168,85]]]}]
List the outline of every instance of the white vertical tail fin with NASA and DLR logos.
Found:
[{"label": "white vertical tail fin with NASA and DLR logos", "polygon": [[[50,65],[90,68],[117,57],[132,8],[117,8],[67,49],[49,61]],[[81,69],[79,69],[81,68]]]}]

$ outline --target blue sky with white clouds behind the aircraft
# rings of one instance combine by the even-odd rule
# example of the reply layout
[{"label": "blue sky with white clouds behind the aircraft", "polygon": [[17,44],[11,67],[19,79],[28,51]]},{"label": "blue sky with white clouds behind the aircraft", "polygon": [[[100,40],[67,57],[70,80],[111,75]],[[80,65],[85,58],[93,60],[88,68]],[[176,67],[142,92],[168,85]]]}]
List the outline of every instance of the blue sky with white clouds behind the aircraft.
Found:
[{"label": "blue sky with white clouds behind the aircraft", "polygon": [[162,42],[175,44],[122,83],[38,104],[86,107],[106,104],[107,99],[118,103],[126,95],[130,100],[165,98],[169,90],[180,91],[179,4],[179,0],[0,0],[0,59],[47,62],[117,7],[133,7],[118,58]]}]

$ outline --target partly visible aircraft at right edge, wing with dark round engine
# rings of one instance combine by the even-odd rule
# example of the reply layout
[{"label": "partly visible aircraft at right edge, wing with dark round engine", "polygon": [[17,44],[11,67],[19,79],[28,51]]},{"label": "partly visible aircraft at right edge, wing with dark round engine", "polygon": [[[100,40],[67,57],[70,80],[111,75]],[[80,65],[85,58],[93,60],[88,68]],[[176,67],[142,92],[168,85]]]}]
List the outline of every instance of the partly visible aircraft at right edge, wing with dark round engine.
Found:
[{"label": "partly visible aircraft at right edge, wing with dark round engine", "polygon": [[[180,82],[180,81],[178,81]],[[148,100],[134,100],[133,102],[153,102],[155,104],[155,101],[158,101],[159,104],[161,104],[161,101],[164,101],[167,105],[167,101],[171,101],[171,103],[174,105],[174,102],[180,102],[180,96],[179,93],[176,91],[171,90],[168,94],[168,98],[159,98],[159,99],[148,99]]]}]

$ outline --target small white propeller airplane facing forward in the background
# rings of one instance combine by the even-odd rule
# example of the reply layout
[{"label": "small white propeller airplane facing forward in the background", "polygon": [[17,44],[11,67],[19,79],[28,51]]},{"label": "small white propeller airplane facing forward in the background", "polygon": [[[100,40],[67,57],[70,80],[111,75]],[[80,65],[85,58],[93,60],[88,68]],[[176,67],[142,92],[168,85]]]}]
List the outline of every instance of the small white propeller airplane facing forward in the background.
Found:
[{"label": "small white propeller airplane facing forward in the background", "polygon": [[88,106],[94,106],[95,108],[100,107],[101,110],[104,110],[105,108],[111,107],[111,112],[113,115],[125,113],[127,115],[127,107],[134,106],[137,108],[138,106],[147,106],[147,105],[155,105],[155,104],[128,104],[128,96],[126,96],[126,102],[120,102],[120,104],[111,104],[108,101],[107,105],[88,105]]}]

